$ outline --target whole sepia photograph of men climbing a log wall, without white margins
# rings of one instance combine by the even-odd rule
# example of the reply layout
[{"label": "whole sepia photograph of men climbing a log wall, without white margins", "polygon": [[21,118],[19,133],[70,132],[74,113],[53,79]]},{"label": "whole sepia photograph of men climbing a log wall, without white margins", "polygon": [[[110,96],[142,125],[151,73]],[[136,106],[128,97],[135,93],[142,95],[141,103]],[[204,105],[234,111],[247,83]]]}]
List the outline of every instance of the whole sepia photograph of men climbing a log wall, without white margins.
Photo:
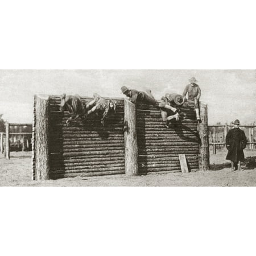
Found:
[{"label": "whole sepia photograph of men climbing a log wall, without white margins", "polygon": [[[255,186],[255,70],[1,70],[1,186]],[[18,111],[17,111],[18,110]]]}]

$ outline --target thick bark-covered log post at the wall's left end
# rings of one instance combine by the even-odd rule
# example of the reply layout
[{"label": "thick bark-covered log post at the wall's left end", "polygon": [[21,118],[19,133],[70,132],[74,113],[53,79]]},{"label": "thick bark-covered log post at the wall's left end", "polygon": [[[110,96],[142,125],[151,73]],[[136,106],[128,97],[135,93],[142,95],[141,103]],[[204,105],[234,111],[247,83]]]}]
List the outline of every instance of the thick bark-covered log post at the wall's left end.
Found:
[{"label": "thick bark-covered log post at the wall's left end", "polygon": [[36,96],[35,105],[35,179],[49,179],[48,96]]}]

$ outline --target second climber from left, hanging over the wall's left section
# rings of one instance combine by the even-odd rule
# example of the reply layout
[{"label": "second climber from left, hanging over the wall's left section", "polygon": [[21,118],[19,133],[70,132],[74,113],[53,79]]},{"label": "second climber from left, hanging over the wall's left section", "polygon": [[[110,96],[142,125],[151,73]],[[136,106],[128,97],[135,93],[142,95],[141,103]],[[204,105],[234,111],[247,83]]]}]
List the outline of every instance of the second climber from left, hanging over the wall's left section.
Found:
[{"label": "second climber from left, hanging over the wall's left section", "polygon": [[104,119],[110,110],[115,113],[116,104],[113,100],[105,100],[97,93],[93,94],[94,100],[86,104],[87,115],[96,113],[101,117],[101,125],[104,126]]}]

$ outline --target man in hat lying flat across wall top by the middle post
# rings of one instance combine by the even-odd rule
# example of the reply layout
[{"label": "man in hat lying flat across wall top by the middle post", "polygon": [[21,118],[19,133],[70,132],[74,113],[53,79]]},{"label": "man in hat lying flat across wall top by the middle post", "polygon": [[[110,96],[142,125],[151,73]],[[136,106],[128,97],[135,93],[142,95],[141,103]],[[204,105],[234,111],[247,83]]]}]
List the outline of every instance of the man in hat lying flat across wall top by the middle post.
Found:
[{"label": "man in hat lying flat across wall top by the middle post", "polygon": [[151,90],[146,90],[146,92],[139,92],[138,90],[128,89],[126,86],[122,86],[122,93],[130,98],[130,101],[134,104],[143,103],[153,106],[158,106],[158,102],[152,96]]}]

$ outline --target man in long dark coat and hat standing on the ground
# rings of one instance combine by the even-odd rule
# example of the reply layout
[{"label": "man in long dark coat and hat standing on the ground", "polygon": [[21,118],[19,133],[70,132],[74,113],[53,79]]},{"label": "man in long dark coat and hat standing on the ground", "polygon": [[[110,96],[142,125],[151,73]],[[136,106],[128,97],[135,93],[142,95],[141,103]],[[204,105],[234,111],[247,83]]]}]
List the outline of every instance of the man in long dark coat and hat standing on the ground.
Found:
[{"label": "man in long dark coat and hat standing on the ground", "polygon": [[245,160],[243,149],[246,147],[247,140],[245,132],[239,128],[240,121],[236,119],[233,125],[234,128],[226,135],[226,148],[229,151],[226,159],[231,161],[231,171],[236,171],[241,170],[241,161]]}]

